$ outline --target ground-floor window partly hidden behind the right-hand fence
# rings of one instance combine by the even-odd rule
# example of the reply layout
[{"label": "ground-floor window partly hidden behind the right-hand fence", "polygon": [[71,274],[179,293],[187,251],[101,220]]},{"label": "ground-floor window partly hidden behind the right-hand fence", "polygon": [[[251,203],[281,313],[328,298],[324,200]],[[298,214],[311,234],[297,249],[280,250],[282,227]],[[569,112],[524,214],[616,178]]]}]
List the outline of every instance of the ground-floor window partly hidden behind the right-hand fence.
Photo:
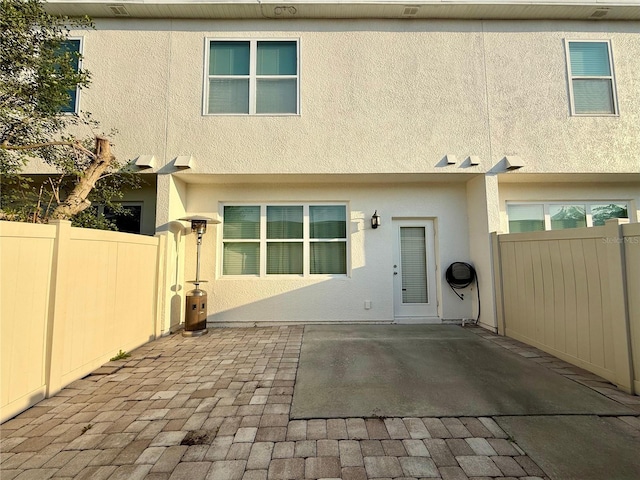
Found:
[{"label": "ground-floor window partly hidden behind the right-hand fence", "polygon": [[610,218],[629,218],[626,202],[508,203],[509,233],[597,227]]}]

